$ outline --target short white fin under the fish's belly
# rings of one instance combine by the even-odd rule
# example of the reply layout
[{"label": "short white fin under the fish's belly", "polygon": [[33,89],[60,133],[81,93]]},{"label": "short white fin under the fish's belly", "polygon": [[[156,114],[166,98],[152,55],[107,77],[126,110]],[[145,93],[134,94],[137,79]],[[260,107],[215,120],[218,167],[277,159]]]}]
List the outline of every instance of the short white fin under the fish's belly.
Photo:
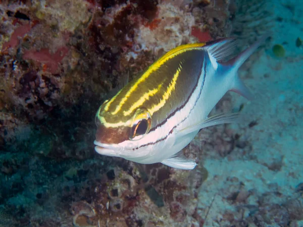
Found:
[{"label": "short white fin under the fish's belly", "polygon": [[180,169],[193,169],[197,163],[193,160],[188,159],[184,156],[182,151],[172,155],[171,157],[161,161],[162,164],[168,165],[173,168],[180,168]]}]

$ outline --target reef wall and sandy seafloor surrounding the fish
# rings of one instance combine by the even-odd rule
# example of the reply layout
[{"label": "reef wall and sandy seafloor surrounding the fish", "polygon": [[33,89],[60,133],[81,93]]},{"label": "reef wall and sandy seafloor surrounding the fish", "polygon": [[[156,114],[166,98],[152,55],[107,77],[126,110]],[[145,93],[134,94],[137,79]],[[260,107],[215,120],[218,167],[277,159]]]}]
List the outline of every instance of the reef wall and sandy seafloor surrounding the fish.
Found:
[{"label": "reef wall and sandy seafloor surrounding the fish", "polygon": [[[303,2],[0,0],[0,226],[303,226]],[[183,171],[94,151],[94,116],[170,49],[221,37],[256,98],[212,111]]]}]

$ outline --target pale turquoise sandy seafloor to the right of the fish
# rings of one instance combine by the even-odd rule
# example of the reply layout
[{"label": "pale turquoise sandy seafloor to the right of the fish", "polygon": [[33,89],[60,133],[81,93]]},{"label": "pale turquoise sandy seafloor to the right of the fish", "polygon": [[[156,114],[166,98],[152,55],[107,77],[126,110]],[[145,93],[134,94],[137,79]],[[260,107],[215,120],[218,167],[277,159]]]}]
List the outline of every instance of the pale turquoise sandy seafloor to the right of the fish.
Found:
[{"label": "pale turquoise sandy seafloor to the right of the fish", "polygon": [[[274,22],[272,40],[257,61],[247,66],[248,60],[240,69],[256,99],[247,103],[232,94],[233,106],[246,102],[243,112],[257,124],[228,126],[249,145],[236,147],[224,158],[208,155],[203,161],[209,171],[199,193],[201,215],[206,216],[210,207],[205,226],[229,226],[228,213],[247,219],[265,203],[281,205],[300,197],[296,186],[303,179],[303,48],[295,42],[303,38],[303,5],[297,3],[276,1],[275,18],[283,19]],[[285,48],[283,58],[274,56],[274,44]],[[303,225],[303,220],[290,221]]]}]

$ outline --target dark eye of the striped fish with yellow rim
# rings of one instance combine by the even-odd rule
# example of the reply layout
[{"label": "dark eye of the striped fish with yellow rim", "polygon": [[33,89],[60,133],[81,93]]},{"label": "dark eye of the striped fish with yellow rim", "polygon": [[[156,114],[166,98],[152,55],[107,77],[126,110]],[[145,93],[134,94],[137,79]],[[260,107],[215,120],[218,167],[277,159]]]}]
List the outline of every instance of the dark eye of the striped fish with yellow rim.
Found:
[{"label": "dark eye of the striped fish with yellow rim", "polygon": [[130,140],[139,140],[151,128],[151,116],[147,109],[139,108],[135,111],[131,124]]}]

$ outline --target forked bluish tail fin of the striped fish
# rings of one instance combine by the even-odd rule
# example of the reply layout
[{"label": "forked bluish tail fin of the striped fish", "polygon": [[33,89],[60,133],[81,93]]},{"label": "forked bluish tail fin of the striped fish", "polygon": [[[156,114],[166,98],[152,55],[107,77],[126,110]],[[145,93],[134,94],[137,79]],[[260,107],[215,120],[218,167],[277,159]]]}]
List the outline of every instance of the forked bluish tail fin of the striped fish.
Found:
[{"label": "forked bluish tail fin of the striped fish", "polygon": [[224,70],[229,71],[233,75],[233,79],[230,84],[230,91],[234,91],[245,98],[251,100],[254,96],[251,94],[249,89],[244,85],[238,76],[238,69],[240,66],[249,58],[249,56],[256,51],[256,49],[265,42],[269,35],[263,35],[257,42],[249,46],[247,49],[242,51],[239,55],[235,56],[231,60],[221,63]]}]

